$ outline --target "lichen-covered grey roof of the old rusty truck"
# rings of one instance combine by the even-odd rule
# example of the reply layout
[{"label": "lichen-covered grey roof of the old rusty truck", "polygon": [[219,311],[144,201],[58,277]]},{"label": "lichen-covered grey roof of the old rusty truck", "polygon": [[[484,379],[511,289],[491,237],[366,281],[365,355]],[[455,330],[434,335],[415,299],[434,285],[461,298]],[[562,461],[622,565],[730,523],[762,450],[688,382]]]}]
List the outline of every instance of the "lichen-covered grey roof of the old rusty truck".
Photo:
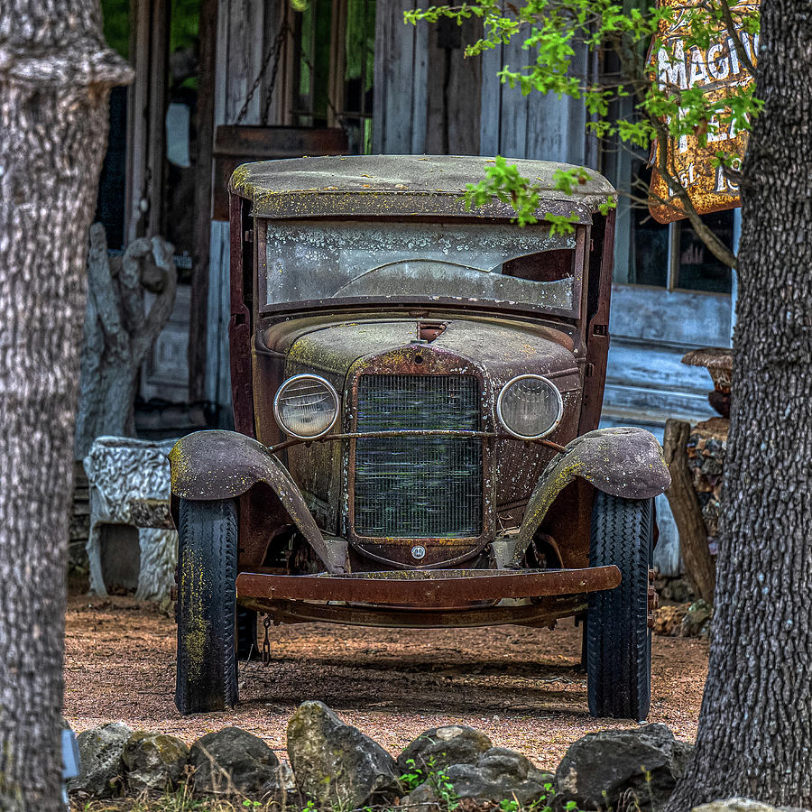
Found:
[{"label": "lichen-covered grey roof of the old rusty truck", "polygon": [[[615,198],[603,175],[587,169],[588,180],[573,194],[555,188],[554,173],[569,163],[506,159],[521,177],[540,188],[537,216],[572,214],[589,223],[607,198]],[[229,190],[251,200],[254,217],[444,216],[512,218],[497,198],[468,211],[462,196],[469,183],[484,180],[494,158],[472,155],[329,155],[244,163]]]}]

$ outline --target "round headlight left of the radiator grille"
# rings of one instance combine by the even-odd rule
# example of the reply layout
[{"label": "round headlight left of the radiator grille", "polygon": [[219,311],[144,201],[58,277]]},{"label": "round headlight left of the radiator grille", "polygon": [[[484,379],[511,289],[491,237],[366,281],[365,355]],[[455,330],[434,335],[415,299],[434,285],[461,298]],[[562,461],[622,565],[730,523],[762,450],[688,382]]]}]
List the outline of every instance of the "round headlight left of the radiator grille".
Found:
[{"label": "round headlight left of the radiator grille", "polygon": [[338,394],[318,375],[293,375],[276,392],[273,416],[292,437],[321,437],[338,417]]}]

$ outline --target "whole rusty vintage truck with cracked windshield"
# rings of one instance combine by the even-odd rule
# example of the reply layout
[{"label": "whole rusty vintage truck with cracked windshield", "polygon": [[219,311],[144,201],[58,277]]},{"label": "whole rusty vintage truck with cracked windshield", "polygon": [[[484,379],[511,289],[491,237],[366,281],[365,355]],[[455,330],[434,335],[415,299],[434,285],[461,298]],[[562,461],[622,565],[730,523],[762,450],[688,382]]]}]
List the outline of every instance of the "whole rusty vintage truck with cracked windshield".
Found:
[{"label": "whole rusty vintage truck with cracked windshield", "polygon": [[[231,181],[235,432],[171,452],[182,713],[232,706],[257,613],[586,622],[589,708],[650,702],[657,441],[597,429],[614,190],[520,161],[539,223],[468,211],[484,158],[248,164]],[[554,234],[544,214],[572,215]]]}]

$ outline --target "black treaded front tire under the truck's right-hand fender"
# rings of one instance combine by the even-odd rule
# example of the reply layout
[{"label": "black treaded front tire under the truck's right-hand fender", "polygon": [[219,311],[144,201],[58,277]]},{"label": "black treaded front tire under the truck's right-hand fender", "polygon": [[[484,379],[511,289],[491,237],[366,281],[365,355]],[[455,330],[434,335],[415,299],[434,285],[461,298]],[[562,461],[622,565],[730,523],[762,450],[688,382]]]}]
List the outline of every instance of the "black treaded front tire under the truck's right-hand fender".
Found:
[{"label": "black treaded front tire under the truck's right-hand fender", "polygon": [[586,678],[589,713],[642,721],[651,706],[649,567],[651,499],[598,491],[592,511],[589,563],[616,565],[620,586],[589,595]]}]

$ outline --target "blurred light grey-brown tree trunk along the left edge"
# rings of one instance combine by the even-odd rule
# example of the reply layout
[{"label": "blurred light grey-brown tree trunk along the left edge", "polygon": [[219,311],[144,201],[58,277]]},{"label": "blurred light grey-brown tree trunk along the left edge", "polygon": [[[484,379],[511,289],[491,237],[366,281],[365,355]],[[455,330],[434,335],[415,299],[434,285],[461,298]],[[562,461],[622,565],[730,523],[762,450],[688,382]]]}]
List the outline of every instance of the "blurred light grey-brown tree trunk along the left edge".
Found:
[{"label": "blurred light grey-brown tree trunk along the left edge", "polygon": [[97,0],[0,4],[0,809],[60,808],[73,421],[108,90]]}]

